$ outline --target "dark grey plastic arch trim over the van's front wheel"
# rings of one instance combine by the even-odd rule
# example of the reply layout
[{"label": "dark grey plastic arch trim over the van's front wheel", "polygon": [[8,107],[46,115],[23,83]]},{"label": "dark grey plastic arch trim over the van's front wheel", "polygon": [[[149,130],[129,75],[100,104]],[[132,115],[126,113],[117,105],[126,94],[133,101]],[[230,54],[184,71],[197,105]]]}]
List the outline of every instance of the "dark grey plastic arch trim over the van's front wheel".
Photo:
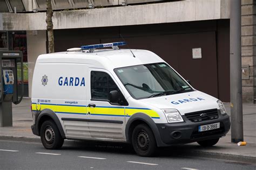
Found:
[{"label": "dark grey plastic arch trim over the van's front wheel", "polygon": [[126,123],[126,128],[125,128],[125,136],[126,136],[126,141],[128,143],[131,143],[132,139],[132,131],[138,124],[147,124],[150,129],[152,130],[154,137],[156,138],[157,146],[169,146],[163,143],[160,137],[160,133],[158,131],[156,123],[154,123],[153,119],[149,117],[146,114],[143,113],[137,113],[132,115],[129,120]]}]

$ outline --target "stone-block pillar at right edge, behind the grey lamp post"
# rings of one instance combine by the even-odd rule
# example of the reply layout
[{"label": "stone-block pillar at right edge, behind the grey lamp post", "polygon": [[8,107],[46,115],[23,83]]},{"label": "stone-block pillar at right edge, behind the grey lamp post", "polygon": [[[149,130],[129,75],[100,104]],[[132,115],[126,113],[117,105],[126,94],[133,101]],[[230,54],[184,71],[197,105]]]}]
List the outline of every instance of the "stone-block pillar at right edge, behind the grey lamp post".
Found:
[{"label": "stone-block pillar at right edge, behind the grey lamp post", "polygon": [[256,0],[241,0],[242,100],[256,103]]}]

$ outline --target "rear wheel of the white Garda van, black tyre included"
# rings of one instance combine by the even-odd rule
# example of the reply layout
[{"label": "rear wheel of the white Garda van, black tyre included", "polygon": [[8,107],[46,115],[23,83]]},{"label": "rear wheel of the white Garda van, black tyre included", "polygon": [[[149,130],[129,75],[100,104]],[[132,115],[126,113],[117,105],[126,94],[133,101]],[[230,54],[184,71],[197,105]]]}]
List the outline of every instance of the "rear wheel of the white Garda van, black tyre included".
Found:
[{"label": "rear wheel of the white Garda van, black tyre included", "polygon": [[45,121],[40,129],[41,141],[44,147],[48,150],[55,150],[62,147],[64,139],[59,133],[55,122]]}]

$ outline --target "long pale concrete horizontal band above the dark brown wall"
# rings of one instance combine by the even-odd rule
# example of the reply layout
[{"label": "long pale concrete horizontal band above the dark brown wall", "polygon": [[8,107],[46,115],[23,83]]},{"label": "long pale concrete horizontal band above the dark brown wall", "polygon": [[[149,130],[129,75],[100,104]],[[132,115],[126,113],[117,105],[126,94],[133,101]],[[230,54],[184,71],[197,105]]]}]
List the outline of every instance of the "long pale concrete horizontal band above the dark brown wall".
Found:
[{"label": "long pale concrete horizontal band above the dark brown wall", "polygon": [[[0,16],[1,17],[1,16]],[[45,30],[46,14],[3,13],[0,29]],[[88,10],[56,11],[53,29],[190,22],[230,18],[230,0],[193,0]]]}]

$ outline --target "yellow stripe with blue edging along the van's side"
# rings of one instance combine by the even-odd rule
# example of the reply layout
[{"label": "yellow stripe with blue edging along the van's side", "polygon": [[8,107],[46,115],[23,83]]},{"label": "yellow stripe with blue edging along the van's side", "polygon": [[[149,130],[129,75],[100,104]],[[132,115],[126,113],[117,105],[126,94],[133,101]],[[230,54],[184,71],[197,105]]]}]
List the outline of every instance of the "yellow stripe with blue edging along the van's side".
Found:
[{"label": "yellow stripe with blue edging along the van's side", "polygon": [[[40,105],[40,106],[39,106]],[[66,104],[49,104],[49,103],[32,103],[32,111],[51,109],[56,114],[78,114],[85,115],[87,114],[86,105],[66,105]],[[89,107],[88,107],[89,108]],[[124,115],[125,109],[125,115]],[[149,115],[151,118],[160,118],[156,111],[147,109],[147,108],[131,108],[131,107],[95,107],[90,108],[90,115],[95,116],[126,116],[130,117],[133,114],[142,112],[146,115]],[[111,113],[111,114],[110,114]]]}]

